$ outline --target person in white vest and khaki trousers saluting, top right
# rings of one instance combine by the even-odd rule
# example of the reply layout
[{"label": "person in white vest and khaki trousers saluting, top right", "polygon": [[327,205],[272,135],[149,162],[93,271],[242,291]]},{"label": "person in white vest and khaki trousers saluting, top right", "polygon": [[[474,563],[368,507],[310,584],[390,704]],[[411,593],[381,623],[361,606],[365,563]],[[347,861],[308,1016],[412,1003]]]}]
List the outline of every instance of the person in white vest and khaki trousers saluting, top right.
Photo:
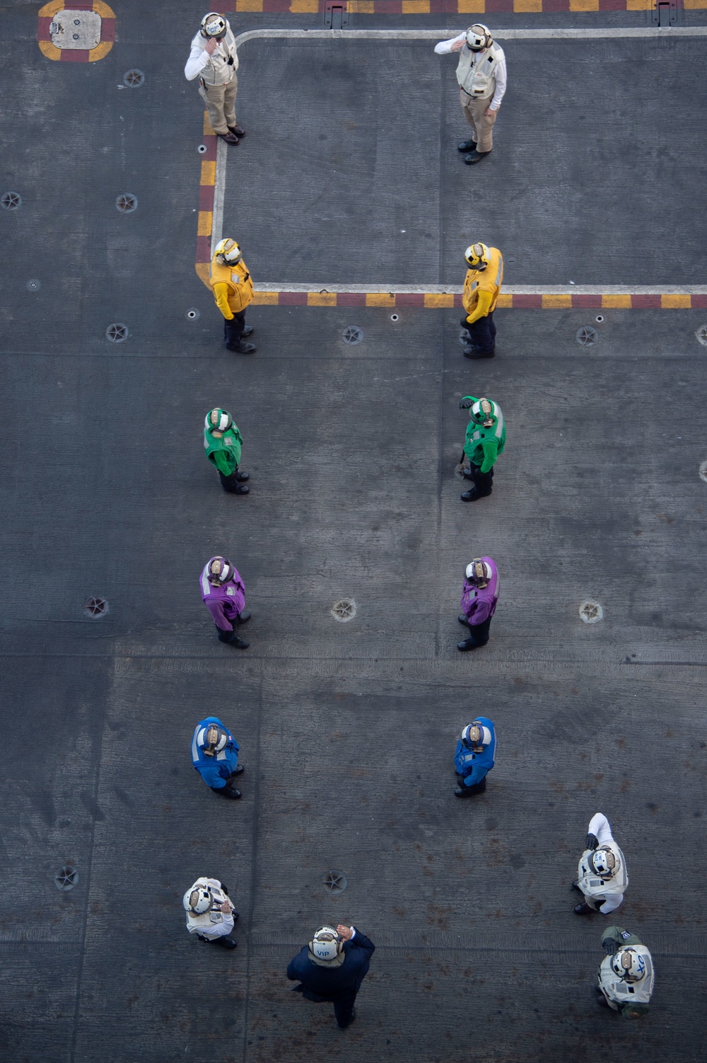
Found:
[{"label": "person in white vest and khaki trousers saluting, top right", "polygon": [[494,43],[487,26],[477,22],[465,33],[435,46],[437,55],[460,52],[456,66],[459,96],[464,117],[471,126],[471,139],[459,145],[467,166],[490,155],[494,123],[505,92],[506,70],[503,49]]}]

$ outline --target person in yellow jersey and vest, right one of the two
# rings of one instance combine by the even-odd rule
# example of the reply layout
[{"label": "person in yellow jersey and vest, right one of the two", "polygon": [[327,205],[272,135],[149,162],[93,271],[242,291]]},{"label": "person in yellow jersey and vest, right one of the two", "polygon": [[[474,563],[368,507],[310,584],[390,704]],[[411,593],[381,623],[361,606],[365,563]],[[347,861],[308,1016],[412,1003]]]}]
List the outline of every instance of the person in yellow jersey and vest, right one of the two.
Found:
[{"label": "person in yellow jersey and vest, right one of the two", "polygon": [[464,252],[469,267],[464,279],[462,305],[469,342],[464,348],[466,358],[493,358],[496,354],[494,310],[503,283],[503,256],[498,248],[472,243]]}]

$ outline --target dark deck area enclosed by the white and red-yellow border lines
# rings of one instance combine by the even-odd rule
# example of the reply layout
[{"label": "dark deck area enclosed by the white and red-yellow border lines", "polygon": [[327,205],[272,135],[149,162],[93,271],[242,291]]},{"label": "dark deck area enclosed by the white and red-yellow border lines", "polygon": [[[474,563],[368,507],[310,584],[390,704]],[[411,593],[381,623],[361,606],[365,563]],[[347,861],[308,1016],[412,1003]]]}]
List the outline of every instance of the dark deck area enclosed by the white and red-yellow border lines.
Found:
[{"label": "dark deck area enclosed by the white and red-yellow border lines", "polygon": [[503,41],[508,89],[475,167],[455,57],[433,44],[241,47],[249,132],[227,154],[223,235],[256,279],[461,283],[483,239],[508,284],[704,281],[702,38]]}]

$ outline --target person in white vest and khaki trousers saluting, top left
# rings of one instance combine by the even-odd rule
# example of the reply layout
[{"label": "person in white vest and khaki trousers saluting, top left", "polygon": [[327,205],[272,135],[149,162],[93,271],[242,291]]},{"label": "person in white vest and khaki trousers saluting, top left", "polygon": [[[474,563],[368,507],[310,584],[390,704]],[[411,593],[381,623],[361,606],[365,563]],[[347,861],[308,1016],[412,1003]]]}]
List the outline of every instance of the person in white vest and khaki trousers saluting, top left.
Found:
[{"label": "person in white vest and khaki trousers saluting, top left", "polygon": [[187,81],[199,78],[199,95],[209,113],[211,129],[226,144],[238,144],[245,130],[236,121],[238,92],[238,52],[228,20],[210,11],[191,43],[184,74]]}]

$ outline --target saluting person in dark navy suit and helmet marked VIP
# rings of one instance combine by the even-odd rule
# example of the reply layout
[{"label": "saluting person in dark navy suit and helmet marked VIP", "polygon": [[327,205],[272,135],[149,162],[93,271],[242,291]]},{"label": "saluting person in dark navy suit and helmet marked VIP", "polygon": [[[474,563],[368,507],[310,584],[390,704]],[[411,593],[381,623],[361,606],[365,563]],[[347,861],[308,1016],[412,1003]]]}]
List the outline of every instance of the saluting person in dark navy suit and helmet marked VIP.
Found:
[{"label": "saluting person in dark navy suit and helmet marked VIP", "polygon": [[321,927],[288,966],[290,981],[301,982],[293,992],[316,1003],[330,1000],[337,1024],[345,1030],[356,1018],[356,994],[375,950],[374,943],[356,927]]}]

